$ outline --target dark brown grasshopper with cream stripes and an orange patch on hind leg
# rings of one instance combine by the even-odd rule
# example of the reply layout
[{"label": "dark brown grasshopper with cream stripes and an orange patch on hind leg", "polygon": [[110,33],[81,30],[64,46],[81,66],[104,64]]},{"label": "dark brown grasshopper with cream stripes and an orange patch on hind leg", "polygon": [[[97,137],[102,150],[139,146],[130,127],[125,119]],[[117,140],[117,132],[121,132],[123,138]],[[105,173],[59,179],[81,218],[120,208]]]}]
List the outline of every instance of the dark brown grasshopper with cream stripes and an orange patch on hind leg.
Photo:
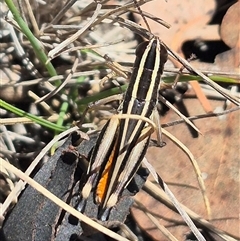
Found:
[{"label": "dark brown grasshopper with cream stripes and an orange patch on hind leg", "polygon": [[[153,120],[167,58],[168,52],[156,36],[137,47],[133,72],[119,114],[112,116],[104,125],[91,153],[87,180],[77,207],[79,211],[84,212],[87,199],[93,192],[99,206],[98,218],[106,221],[144,161],[151,134],[154,130],[160,130]],[[166,184],[156,172],[150,171],[166,190]],[[174,204],[196,237],[204,241],[179,203],[174,201]]]}]

